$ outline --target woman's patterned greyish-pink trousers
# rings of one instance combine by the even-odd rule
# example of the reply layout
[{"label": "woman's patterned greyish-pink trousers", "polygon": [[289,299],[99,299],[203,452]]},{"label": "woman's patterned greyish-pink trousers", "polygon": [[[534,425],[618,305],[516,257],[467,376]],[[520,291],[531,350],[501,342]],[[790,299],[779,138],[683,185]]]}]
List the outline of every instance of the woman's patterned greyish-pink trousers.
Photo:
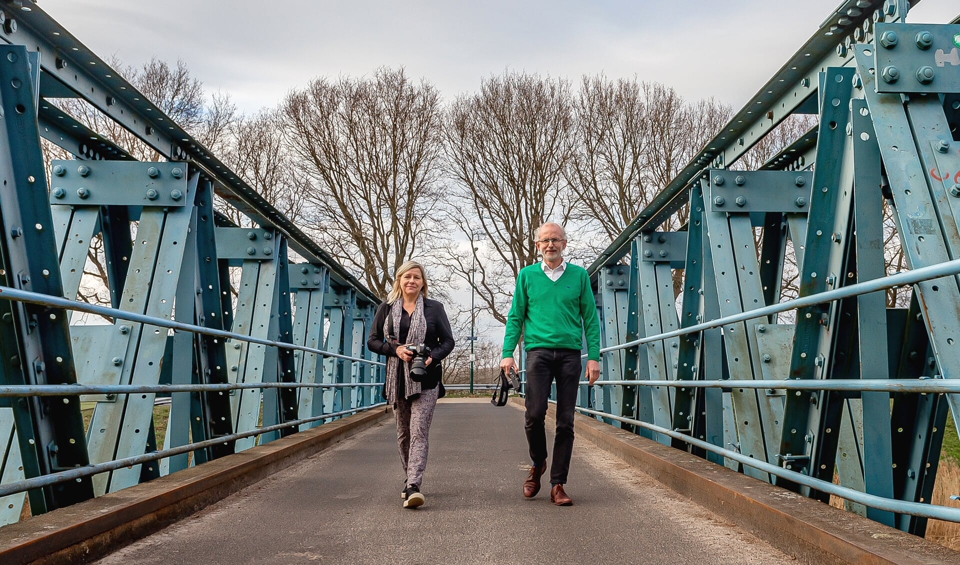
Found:
[{"label": "woman's patterned greyish-pink trousers", "polygon": [[420,486],[426,469],[427,436],[437,406],[440,387],[423,390],[416,398],[396,399],[396,447],[407,476],[407,485]]}]

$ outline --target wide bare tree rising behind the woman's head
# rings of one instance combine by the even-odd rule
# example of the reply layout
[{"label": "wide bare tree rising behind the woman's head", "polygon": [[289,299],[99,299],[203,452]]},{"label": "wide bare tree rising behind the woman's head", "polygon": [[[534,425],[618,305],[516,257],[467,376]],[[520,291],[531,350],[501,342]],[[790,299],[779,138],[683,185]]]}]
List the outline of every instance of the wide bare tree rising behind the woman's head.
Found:
[{"label": "wide bare tree rising behind the woman's head", "polygon": [[443,109],[400,69],[317,79],[281,106],[287,148],[309,180],[313,234],[376,294],[405,260],[444,243],[435,213]]}]

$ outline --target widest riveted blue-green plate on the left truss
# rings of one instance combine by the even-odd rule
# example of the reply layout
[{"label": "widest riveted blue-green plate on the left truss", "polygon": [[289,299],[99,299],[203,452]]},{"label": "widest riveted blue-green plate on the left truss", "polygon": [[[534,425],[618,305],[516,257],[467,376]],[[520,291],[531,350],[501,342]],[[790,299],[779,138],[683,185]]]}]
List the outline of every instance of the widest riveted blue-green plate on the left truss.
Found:
[{"label": "widest riveted blue-green plate on the left truss", "polygon": [[186,163],[75,161],[51,163],[50,203],[77,206],[185,206]]}]

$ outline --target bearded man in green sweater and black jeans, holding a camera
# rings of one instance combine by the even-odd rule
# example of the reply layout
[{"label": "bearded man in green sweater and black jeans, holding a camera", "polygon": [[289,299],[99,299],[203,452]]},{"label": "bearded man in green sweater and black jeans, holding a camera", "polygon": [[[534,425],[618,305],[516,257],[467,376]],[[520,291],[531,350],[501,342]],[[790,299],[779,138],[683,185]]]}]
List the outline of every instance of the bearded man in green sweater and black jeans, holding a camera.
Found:
[{"label": "bearded man in green sweater and black jeans, holding a camera", "polygon": [[573,412],[580,382],[581,349],[587,338],[587,379],[600,378],[600,321],[587,271],[564,261],[566,233],[563,226],[548,222],[537,230],[541,263],[516,275],[514,303],[507,315],[500,367],[516,370],[514,350],[520,336],[527,352],[526,423],[527,443],[533,464],[523,482],[523,496],[540,492],[540,477],[546,471],[546,417],[550,387],[557,381],[557,431],[550,466],[550,502],[570,506],[564,492],[573,452]]}]

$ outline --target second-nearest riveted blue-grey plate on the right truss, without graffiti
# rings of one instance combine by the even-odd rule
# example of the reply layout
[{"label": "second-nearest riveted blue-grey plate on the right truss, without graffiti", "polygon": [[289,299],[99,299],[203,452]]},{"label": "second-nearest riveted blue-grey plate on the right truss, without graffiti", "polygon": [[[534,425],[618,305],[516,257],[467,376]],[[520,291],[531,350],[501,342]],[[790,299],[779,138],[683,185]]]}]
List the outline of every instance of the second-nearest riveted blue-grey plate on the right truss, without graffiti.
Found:
[{"label": "second-nearest riveted blue-grey plate on the right truss, without graffiti", "polygon": [[709,170],[708,212],[791,212],[805,214],[810,205],[810,171]]}]

